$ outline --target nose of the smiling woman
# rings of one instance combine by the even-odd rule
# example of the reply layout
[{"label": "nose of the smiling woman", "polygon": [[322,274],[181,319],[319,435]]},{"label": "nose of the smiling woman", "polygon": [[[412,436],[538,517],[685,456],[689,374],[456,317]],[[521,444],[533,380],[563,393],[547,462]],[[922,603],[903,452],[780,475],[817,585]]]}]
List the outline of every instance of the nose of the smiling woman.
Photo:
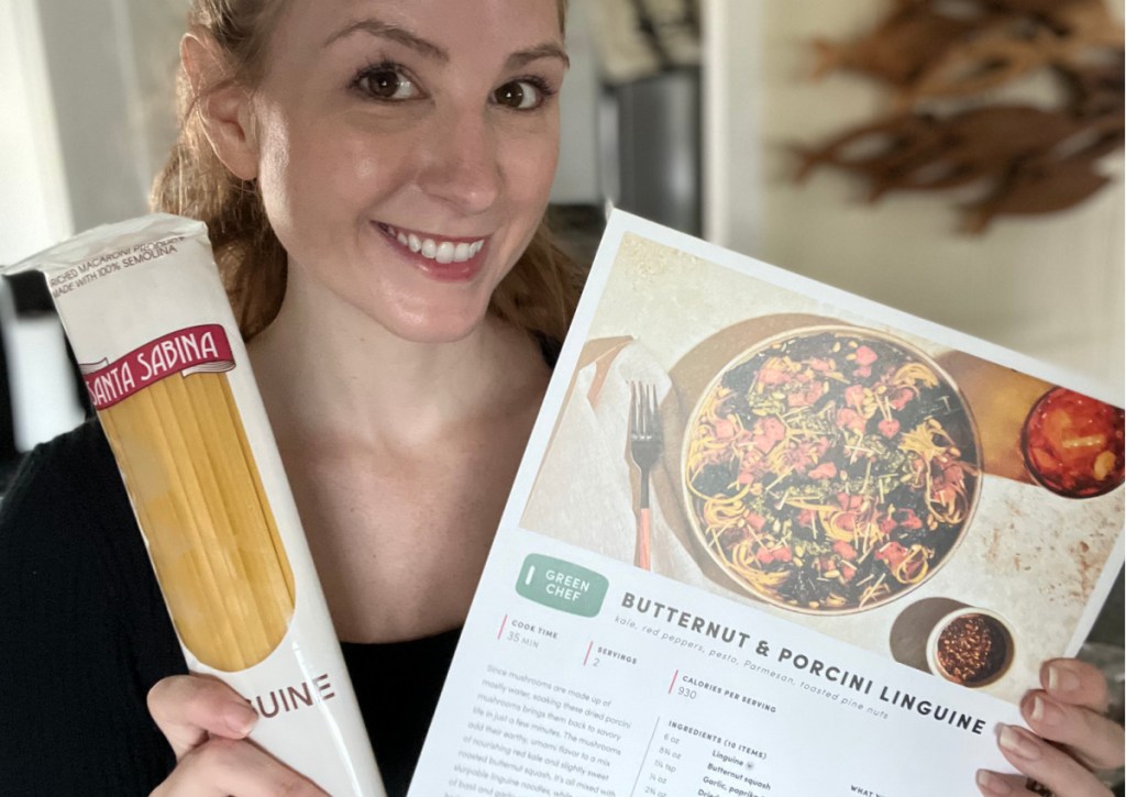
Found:
[{"label": "nose of the smiling woman", "polygon": [[489,110],[449,110],[434,119],[423,141],[419,183],[462,213],[482,213],[500,197],[503,179],[497,131]]}]

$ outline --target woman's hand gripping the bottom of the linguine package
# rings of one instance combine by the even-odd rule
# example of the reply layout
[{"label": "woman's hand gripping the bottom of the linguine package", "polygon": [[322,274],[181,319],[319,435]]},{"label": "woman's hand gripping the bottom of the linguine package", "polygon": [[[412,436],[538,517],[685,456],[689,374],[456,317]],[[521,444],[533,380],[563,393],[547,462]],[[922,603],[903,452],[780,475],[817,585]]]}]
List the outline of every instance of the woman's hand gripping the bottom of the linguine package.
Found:
[{"label": "woman's hand gripping the bottom of the linguine package", "polygon": [[149,692],[149,711],[178,761],[153,797],[327,797],[247,740],[258,715],[225,683],[166,678]]}]

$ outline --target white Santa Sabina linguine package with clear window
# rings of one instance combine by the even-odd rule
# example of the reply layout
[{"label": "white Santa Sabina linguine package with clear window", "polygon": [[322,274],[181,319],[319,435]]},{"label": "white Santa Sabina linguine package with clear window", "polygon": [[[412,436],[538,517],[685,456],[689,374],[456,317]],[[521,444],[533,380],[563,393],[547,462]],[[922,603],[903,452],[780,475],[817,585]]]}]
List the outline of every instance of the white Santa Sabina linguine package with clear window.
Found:
[{"label": "white Santa Sabina linguine package with clear window", "polygon": [[188,668],[334,797],[383,797],[206,226],[155,214],[17,263],[44,272]]}]

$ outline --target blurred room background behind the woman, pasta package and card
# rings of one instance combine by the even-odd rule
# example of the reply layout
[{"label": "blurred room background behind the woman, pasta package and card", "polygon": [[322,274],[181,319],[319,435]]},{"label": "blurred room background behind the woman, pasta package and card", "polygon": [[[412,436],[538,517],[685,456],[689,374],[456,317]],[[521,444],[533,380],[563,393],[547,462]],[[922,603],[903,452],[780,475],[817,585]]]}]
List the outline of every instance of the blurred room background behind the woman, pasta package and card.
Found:
[{"label": "blurred room background behind the woman, pasta package and card", "polygon": [[[185,7],[0,0],[0,263],[146,212]],[[1121,18],[1123,0],[571,0],[554,224],[590,258],[622,207],[1120,405]],[[2,485],[86,410],[42,285],[0,281]],[[1099,627],[1120,647],[1115,595]]]}]

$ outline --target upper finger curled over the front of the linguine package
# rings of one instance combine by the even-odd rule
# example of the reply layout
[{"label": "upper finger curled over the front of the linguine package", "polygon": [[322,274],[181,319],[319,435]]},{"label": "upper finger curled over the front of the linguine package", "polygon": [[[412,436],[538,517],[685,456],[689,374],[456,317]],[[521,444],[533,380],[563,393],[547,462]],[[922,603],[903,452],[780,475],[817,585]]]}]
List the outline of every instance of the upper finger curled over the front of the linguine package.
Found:
[{"label": "upper finger curled over the front of the linguine package", "polygon": [[172,675],[149,690],[149,713],[177,759],[211,735],[243,738],[258,720],[254,709],[221,681],[200,675]]}]

